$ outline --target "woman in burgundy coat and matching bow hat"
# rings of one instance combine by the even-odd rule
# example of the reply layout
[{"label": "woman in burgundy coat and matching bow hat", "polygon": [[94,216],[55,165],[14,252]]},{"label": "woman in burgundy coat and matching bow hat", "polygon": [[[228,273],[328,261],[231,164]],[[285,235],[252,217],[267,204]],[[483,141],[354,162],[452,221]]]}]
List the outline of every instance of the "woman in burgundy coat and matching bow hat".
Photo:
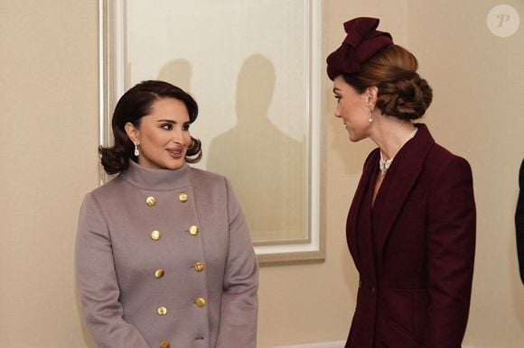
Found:
[{"label": "woman in burgundy coat and matching bow hat", "polygon": [[431,87],[416,58],[378,25],[344,23],[347,37],[327,59],[335,116],[351,142],[378,145],[347,220],[360,284],[346,347],[460,348],[473,279],[472,170],[413,123]]}]

